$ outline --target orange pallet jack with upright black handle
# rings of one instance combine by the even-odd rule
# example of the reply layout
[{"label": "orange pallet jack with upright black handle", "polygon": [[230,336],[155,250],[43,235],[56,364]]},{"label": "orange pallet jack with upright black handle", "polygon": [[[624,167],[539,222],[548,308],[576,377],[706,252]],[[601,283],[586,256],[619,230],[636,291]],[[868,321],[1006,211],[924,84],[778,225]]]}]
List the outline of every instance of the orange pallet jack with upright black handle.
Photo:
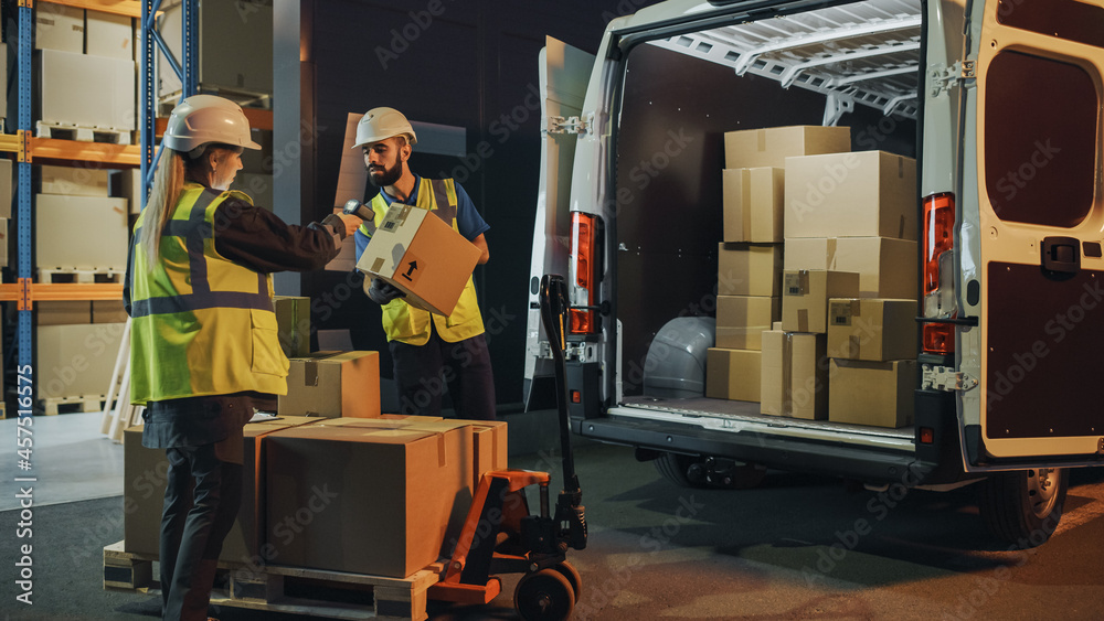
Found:
[{"label": "orange pallet jack with upright black handle", "polygon": [[[580,576],[567,548],[586,547],[586,518],[575,474],[567,419],[564,334],[567,288],[561,276],[541,279],[541,320],[555,361],[564,488],[555,515],[549,514],[548,472],[499,470],[484,473],[445,577],[429,587],[431,600],[489,603],[502,590],[495,574],[524,574],[513,606],[527,621],[563,621],[578,600]],[[526,488],[539,485],[540,514],[531,514]]]}]

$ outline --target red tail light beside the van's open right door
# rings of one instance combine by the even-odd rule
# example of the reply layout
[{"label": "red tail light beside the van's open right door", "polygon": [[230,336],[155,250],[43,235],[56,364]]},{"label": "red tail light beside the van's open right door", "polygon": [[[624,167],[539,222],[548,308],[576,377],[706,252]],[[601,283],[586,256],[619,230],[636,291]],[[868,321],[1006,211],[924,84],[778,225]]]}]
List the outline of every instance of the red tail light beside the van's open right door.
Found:
[{"label": "red tail light beside the van's open right door", "polygon": [[[924,318],[953,319],[955,307],[955,195],[924,199]],[[923,349],[933,354],[955,351],[953,323],[924,323]]]}]

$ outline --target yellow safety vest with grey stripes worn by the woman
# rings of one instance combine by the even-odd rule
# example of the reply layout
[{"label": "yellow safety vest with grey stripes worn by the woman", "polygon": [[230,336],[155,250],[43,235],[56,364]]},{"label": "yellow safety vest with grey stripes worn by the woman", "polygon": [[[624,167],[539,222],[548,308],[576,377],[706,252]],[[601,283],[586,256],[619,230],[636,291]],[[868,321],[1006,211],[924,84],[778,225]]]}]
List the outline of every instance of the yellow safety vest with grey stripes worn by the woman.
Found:
[{"label": "yellow safety vest with grey stripes worn by the woman", "polygon": [[[253,203],[241,192],[185,184],[161,233],[152,271],[145,247],[134,246],[134,404],[244,390],[287,394],[272,276],[226,259],[214,246],[214,212],[230,197]],[[135,223],[136,240],[147,213]]]}]

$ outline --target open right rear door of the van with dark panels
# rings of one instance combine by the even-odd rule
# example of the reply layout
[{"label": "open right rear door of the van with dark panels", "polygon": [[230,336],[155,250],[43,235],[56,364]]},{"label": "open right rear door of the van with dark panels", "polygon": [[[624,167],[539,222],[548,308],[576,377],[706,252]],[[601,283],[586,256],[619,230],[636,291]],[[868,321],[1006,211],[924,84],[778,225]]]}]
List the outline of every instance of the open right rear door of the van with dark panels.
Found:
[{"label": "open right rear door of the van with dark panels", "polygon": [[1075,462],[1104,449],[1104,6],[973,6],[976,143],[963,179],[976,162],[978,213],[976,228],[963,216],[960,295],[979,324],[960,356],[964,372],[979,363],[980,394],[964,400],[966,457]]}]

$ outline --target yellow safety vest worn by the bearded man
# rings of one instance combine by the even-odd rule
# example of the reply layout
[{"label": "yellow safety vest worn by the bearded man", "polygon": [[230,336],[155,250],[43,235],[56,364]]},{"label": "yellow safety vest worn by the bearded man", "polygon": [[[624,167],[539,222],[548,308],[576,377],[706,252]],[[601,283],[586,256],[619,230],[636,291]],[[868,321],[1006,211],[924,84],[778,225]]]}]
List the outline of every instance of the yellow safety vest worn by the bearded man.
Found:
[{"label": "yellow safety vest worn by the bearded man", "polygon": [[[440,220],[447,222],[454,231],[459,233],[459,228],[456,226],[456,186],[452,179],[421,179],[415,206],[435,212]],[[372,199],[372,211],[375,212],[375,225],[379,226],[388,213],[388,202],[383,199],[382,193]],[[361,225],[360,231],[369,238],[372,237],[367,226]],[[482,315],[479,314],[479,301],[476,299],[476,286],[470,276],[467,285],[464,286],[464,291],[460,292],[456,308],[453,309],[453,314],[448,317],[434,314],[414,308],[400,298],[383,306],[383,331],[388,334],[388,341],[400,341],[407,345],[424,345],[429,341],[431,318],[437,334],[448,343],[484,333]]]}]

